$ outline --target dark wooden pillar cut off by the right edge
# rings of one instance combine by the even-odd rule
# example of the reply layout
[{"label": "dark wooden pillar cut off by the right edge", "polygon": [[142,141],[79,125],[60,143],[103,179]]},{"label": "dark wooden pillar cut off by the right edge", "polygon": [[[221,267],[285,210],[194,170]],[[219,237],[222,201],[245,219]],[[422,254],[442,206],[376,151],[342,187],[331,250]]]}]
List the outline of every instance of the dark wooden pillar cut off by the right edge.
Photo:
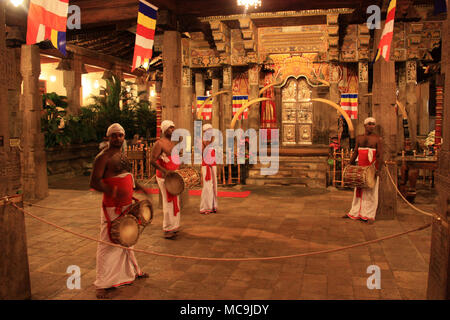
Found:
[{"label": "dark wooden pillar cut off by the right edge", "polygon": [[442,73],[445,74],[443,144],[439,151],[435,173],[438,192],[438,215],[442,223],[433,220],[427,298],[450,299],[450,20],[442,28]]}]

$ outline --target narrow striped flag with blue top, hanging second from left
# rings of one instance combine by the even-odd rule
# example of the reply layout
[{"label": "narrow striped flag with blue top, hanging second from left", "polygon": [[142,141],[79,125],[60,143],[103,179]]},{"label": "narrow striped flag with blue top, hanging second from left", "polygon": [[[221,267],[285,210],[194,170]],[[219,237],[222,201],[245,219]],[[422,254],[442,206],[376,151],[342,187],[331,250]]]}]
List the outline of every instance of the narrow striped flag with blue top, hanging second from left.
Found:
[{"label": "narrow striped flag with blue top, hanging second from left", "polygon": [[141,66],[147,69],[150,64],[153,54],[157,11],[158,8],[147,1],[139,1],[136,43],[131,71]]}]

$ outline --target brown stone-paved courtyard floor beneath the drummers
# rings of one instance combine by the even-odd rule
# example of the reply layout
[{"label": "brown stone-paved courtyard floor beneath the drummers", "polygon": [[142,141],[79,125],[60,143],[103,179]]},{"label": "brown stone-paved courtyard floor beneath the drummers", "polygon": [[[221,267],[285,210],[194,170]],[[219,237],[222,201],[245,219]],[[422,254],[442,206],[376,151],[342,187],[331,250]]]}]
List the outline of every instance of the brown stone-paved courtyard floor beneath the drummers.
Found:
[{"label": "brown stone-paved courtyard floor beneath the drummers", "polygon": [[[101,195],[89,191],[88,177],[52,181],[50,195],[27,211],[64,228],[98,236]],[[399,233],[430,218],[399,199],[395,220],[373,225],[342,219],[352,192],[335,188],[236,186],[247,198],[219,198],[219,213],[200,215],[199,196],[182,209],[176,240],[162,237],[161,209],[136,248],[195,257],[270,257],[337,248]],[[157,195],[153,203],[158,203]],[[434,190],[418,191],[417,205],[433,211]],[[157,205],[156,205],[157,207]],[[90,240],[26,216],[33,299],[95,299],[96,247]],[[425,299],[431,229],[330,254],[272,261],[196,261],[136,253],[150,278],[115,290],[113,299]],[[81,269],[81,289],[69,290],[66,273]],[[367,268],[381,269],[381,289],[369,290]]]}]

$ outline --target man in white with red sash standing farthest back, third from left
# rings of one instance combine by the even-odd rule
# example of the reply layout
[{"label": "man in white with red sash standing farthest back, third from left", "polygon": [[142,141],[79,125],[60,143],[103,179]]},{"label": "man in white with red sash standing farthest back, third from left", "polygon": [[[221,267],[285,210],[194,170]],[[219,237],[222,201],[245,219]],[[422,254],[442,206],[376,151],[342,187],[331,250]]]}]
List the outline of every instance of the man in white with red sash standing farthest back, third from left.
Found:
[{"label": "man in white with red sash standing farthest back, third from left", "polygon": [[[203,133],[212,130],[212,125],[203,125]],[[215,150],[212,149],[207,155],[204,154],[205,148],[214,141],[203,141],[203,160],[202,160],[202,196],[200,200],[200,213],[210,214],[217,212],[217,167]]]}]

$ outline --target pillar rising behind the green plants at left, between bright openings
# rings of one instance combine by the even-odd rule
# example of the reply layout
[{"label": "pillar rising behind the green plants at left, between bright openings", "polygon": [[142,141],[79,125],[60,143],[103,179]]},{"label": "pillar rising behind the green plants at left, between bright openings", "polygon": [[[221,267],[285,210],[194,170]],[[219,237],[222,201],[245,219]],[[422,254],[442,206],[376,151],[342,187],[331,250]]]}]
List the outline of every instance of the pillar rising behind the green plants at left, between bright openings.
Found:
[{"label": "pillar rising behind the green plants at left, between bright openings", "polygon": [[78,114],[81,110],[81,75],[82,75],[82,61],[81,57],[74,53],[74,58],[71,61],[73,64],[72,70],[63,70],[63,82],[67,92],[68,113]]}]

